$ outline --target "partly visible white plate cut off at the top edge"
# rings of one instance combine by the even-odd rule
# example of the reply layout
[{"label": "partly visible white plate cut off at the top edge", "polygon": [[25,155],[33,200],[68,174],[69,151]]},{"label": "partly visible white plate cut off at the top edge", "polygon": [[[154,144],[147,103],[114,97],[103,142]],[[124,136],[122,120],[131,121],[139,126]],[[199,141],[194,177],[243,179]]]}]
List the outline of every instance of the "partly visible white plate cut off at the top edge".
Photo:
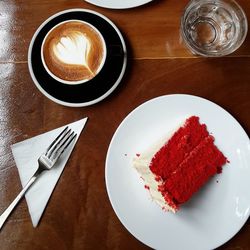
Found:
[{"label": "partly visible white plate cut off at the top edge", "polygon": [[85,0],[85,2],[110,9],[128,9],[149,3],[152,0]]}]

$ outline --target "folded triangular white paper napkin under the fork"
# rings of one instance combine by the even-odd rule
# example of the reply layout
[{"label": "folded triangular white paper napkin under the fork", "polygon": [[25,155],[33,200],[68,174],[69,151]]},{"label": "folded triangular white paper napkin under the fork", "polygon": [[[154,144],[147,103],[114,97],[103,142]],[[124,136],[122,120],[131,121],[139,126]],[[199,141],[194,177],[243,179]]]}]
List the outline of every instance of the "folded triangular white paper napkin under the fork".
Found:
[{"label": "folded triangular white paper napkin under the fork", "polygon": [[74,140],[69,149],[63,153],[60,157],[60,161],[51,170],[44,171],[25,195],[34,227],[38,225],[53,189],[63,172],[64,166],[86,124],[87,119],[88,118],[84,118],[11,146],[21,183],[24,187],[38,168],[37,160],[39,156],[44,153],[60,132],[66,126],[69,126],[69,128],[77,133],[76,140]]}]

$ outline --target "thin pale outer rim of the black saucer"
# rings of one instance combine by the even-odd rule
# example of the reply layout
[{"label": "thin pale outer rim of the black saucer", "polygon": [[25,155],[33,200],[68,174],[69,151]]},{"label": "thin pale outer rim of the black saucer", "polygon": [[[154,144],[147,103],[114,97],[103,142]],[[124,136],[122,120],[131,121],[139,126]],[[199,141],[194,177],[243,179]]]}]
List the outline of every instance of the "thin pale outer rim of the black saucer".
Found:
[{"label": "thin pale outer rim of the black saucer", "polygon": [[[70,13],[70,12],[87,12],[87,13],[91,13],[94,15],[97,15],[101,18],[103,18],[105,21],[107,21],[112,28],[115,30],[115,32],[117,33],[117,35],[119,36],[120,40],[121,40],[121,45],[123,48],[123,53],[124,53],[124,58],[123,58],[123,65],[122,65],[122,69],[120,71],[120,75],[119,77],[116,79],[116,81],[114,82],[114,84],[112,85],[112,87],[106,91],[103,95],[101,95],[100,97],[93,99],[91,101],[88,102],[82,102],[82,103],[71,103],[71,102],[66,102],[66,101],[62,101],[60,99],[57,99],[56,97],[50,95],[45,89],[43,89],[40,85],[40,83],[38,82],[38,80],[36,79],[36,76],[33,72],[33,68],[32,68],[32,62],[31,62],[31,54],[32,54],[32,50],[33,50],[33,45],[34,45],[34,41],[37,37],[37,35],[40,33],[40,31],[42,30],[42,28],[49,23],[51,20],[53,20],[54,18],[66,14],[66,13]],[[101,32],[100,32],[101,33]],[[125,74],[125,70],[127,67],[127,48],[126,48],[126,44],[125,44],[125,40],[120,32],[120,30],[117,28],[117,26],[106,16],[104,16],[103,14],[97,12],[97,11],[93,11],[93,10],[89,10],[89,9],[82,9],[82,8],[73,8],[73,9],[67,9],[67,10],[63,10],[60,12],[55,13],[54,15],[50,16],[49,18],[47,18],[35,31],[30,45],[29,45],[29,49],[28,49],[28,69],[29,69],[29,73],[31,75],[31,78],[34,82],[34,84],[36,85],[36,87],[38,88],[38,90],[44,95],[46,96],[48,99],[50,99],[51,101],[58,103],[60,105],[63,106],[67,106],[67,107],[86,107],[86,106],[90,106],[93,104],[96,104],[100,101],[102,101],[103,99],[105,99],[106,97],[108,97],[119,85],[119,83],[121,82],[124,74]]]}]

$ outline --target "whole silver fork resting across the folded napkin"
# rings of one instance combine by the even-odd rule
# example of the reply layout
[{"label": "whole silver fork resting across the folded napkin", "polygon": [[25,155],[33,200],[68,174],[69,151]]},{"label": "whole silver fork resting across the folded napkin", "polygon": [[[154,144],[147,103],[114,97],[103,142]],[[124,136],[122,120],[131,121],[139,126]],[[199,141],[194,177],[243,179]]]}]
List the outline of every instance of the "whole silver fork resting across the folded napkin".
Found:
[{"label": "whole silver fork resting across the folded napkin", "polygon": [[15,200],[13,200],[12,203],[8,206],[8,208],[1,214],[0,230],[5,221],[7,220],[7,218],[9,217],[9,215],[11,214],[11,212],[13,211],[13,209],[16,207],[18,202],[23,198],[25,193],[32,186],[32,184],[39,177],[39,175],[45,170],[50,170],[55,165],[59,157],[62,155],[65,149],[71,144],[71,142],[75,138],[76,138],[76,133],[74,131],[71,131],[71,129],[69,129],[68,127],[66,127],[50,144],[46,152],[38,158],[38,169],[36,170],[34,175],[30,178],[30,180],[25,185],[23,190],[17,195]]}]

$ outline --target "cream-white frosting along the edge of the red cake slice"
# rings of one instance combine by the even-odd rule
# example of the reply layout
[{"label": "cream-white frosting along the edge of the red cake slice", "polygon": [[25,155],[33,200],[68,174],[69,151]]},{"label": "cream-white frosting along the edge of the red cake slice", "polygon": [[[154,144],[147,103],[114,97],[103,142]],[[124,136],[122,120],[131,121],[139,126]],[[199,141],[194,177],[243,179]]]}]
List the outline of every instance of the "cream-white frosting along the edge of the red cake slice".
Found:
[{"label": "cream-white frosting along the edge of the red cake slice", "polygon": [[160,150],[164,144],[173,136],[175,131],[177,131],[181,126],[183,126],[186,119],[181,120],[175,129],[169,131],[162,139],[158,140],[154,145],[149,147],[145,152],[140,153],[138,156],[133,159],[133,167],[137,170],[141,178],[143,179],[146,186],[149,187],[149,192],[152,197],[152,200],[155,201],[159,206],[165,210],[170,210],[176,212],[175,209],[170,207],[162,196],[161,192],[158,191],[158,186],[161,182],[155,180],[156,176],[151,172],[149,166],[152,158],[157,151]]}]

